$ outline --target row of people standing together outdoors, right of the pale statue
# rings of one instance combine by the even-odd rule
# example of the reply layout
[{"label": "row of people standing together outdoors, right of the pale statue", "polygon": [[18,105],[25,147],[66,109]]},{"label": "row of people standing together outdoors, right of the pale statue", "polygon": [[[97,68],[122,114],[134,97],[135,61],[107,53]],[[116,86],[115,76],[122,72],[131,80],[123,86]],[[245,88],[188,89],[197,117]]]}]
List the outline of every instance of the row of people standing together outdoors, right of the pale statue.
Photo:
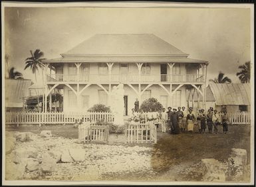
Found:
[{"label": "row of people standing together outdoors, right of the pale statue", "polygon": [[178,107],[172,109],[168,107],[158,112],[144,113],[142,110],[132,109],[132,117],[130,118],[133,123],[149,123],[150,125],[157,125],[162,127],[162,132],[166,132],[169,129],[170,133],[178,134],[180,132],[193,132],[197,127],[199,133],[205,133],[206,128],[208,133],[218,133],[218,127],[222,123],[223,133],[228,131],[229,117],[227,117],[227,111],[223,112],[220,116],[218,111],[213,107],[210,107],[205,113],[204,109],[199,109],[197,113],[193,112],[193,108]]}]

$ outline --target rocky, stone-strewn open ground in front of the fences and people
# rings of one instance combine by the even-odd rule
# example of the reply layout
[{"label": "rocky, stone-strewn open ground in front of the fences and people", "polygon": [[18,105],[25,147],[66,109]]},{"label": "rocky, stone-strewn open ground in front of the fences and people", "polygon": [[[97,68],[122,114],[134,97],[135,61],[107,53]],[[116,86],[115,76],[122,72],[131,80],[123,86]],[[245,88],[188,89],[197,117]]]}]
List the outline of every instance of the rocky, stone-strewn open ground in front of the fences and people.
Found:
[{"label": "rocky, stone-strewn open ground in front of the fences and people", "polygon": [[122,135],[110,135],[108,144],[86,144],[76,134],[68,125],[7,127],[6,179],[201,181],[202,158],[219,160],[225,171],[231,148],[246,149],[250,158],[244,125],[230,127],[227,135],[159,132],[155,145],[128,145]]}]

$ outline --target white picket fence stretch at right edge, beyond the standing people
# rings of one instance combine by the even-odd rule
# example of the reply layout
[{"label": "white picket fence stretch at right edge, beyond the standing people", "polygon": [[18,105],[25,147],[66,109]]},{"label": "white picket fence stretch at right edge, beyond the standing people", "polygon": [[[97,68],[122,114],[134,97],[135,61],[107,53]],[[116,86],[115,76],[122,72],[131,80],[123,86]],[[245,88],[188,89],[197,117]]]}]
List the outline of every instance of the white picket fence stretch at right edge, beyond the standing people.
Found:
[{"label": "white picket fence stretch at right edge, beyond the standing people", "polygon": [[[223,113],[220,113],[220,116],[223,116]],[[251,123],[251,115],[249,112],[235,112],[235,113],[227,113],[229,117],[229,122],[231,124],[250,124]]]}]

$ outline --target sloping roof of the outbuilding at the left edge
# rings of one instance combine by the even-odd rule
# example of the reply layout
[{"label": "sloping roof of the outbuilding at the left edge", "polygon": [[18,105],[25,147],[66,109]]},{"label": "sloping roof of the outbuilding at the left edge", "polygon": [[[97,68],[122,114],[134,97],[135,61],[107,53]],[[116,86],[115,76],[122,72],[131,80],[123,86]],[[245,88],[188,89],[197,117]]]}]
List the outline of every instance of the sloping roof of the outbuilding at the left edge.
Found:
[{"label": "sloping roof of the outbuilding at the left edge", "polygon": [[22,97],[28,96],[31,80],[5,80],[5,107],[22,107]]}]

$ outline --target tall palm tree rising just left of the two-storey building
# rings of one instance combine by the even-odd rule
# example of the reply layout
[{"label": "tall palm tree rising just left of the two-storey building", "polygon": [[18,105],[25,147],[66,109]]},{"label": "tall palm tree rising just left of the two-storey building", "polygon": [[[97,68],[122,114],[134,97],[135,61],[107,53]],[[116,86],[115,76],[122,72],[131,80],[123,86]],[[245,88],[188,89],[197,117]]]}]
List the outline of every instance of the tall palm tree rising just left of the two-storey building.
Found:
[{"label": "tall palm tree rising just left of the two-storey building", "polygon": [[42,60],[45,60],[45,58],[41,58],[44,54],[39,49],[35,50],[34,53],[32,52],[32,50],[30,50],[30,53],[31,57],[25,60],[26,66],[24,70],[30,67],[33,74],[35,74],[35,80],[37,82],[37,71],[39,71],[39,68],[42,68]]}]

